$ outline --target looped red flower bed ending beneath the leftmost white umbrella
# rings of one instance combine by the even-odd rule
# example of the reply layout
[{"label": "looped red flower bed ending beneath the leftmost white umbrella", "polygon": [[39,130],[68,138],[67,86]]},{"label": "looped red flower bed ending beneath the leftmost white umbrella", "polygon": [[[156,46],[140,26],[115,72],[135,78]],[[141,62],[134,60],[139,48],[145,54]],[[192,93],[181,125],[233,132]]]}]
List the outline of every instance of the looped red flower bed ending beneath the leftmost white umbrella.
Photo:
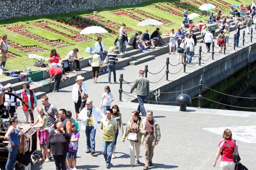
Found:
[{"label": "looped red flower bed ending beneath the leftmost white umbrella", "polygon": [[[54,32],[55,34],[59,34],[59,35],[61,35],[63,37],[66,37],[68,39],[71,39],[71,40],[79,42],[79,43],[90,41],[90,39],[88,37],[85,37],[84,35],[78,34],[76,31],[69,30],[69,29],[66,29],[66,28],[62,28],[61,26],[55,25],[53,23],[48,23],[48,22],[43,21],[43,22],[29,23],[29,24],[35,25],[35,26],[40,27],[40,28],[43,28],[43,29],[45,29],[47,31],[50,31],[50,32]],[[53,30],[51,28],[46,27],[46,25],[54,25],[54,26],[56,26],[58,28],[62,28],[63,30],[69,31],[69,32],[75,34],[76,36],[72,37],[71,35],[69,36],[69,35],[66,35],[66,34],[62,34],[61,32],[58,32],[58,31],[55,31],[55,30]]]}]

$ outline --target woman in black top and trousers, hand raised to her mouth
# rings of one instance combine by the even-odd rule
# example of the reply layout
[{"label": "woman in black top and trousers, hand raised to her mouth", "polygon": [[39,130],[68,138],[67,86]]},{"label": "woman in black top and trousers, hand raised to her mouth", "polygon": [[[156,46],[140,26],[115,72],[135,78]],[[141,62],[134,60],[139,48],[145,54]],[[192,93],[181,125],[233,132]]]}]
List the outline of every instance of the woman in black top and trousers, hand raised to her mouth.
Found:
[{"label": "woman in black top and trousers, hand raised to her mouth", "polygon": [[68,149],[69,133],[64,131],[62,121],[54,123],[55,130],[52,130],[47,140],[48,153],[52,152],[56,170],[66,170],[66,153]]}]

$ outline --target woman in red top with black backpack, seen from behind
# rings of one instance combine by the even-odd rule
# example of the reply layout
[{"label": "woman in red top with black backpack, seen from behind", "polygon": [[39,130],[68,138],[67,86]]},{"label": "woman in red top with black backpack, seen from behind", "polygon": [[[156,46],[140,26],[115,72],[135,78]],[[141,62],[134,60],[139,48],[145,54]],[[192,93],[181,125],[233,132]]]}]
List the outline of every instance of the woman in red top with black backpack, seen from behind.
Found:
[{"label": "woman in red top with black backpack, seen from behind", "polygon": [[234,152],[235,144],[238,151],[237,141],[232,140],[232,132],[230,129],[225,129],[225,131],[223,132],[222,138],[224,138],[224,140],[220,141],[218,145],[218,151],[215,156],[213,166],[214,167],[216,166],[216,162],[220,157],[221,151],[223,150],[223,153],[221,154],[221,159],[220,159],[220,170],[234,170],[235,163],[233,161],[233,152]]}]

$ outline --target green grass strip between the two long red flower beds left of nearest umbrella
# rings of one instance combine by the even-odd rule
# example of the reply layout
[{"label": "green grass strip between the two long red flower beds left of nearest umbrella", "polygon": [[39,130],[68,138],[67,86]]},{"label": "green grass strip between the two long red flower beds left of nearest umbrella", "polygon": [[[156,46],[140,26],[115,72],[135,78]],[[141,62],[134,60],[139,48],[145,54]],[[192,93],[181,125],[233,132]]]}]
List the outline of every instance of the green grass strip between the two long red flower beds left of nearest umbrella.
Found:
[{"label": "green grass strip between the two long red flower beds left of nearest umbrella", "polygon": [[54,32],[50,32],[47,30],[44,30],[43,28],[39,28],[37,26],[31,25],[31,24],[24,24],[24,26],[27,26],[28,28],[26,31],[31,32],[32,34],[36,34],[38,37],[47,39],[49,41],[65,41],[69,44],[76,45],[78,44],[76,41],[70,40],[66,37],[63,37],[62,35],[56,34]]}]

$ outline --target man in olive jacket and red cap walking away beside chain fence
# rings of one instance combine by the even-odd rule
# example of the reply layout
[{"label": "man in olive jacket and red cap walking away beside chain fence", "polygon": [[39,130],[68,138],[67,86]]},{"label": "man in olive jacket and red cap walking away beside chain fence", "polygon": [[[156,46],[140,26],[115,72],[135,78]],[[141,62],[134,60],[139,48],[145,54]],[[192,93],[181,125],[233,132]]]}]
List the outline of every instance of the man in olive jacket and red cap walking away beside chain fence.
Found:
[{"label": "man in olive jacket and red cap walking away beside chain fence", "polygon": [[140,70],[139,72],[139,78],[136,78],[134,80],[133,86],[130,90],[130,93],[133,92],[136,88],[136,94],[139,101],[139,106],[137,108],[137,112],[142,114],[142,116],[146,116],[146,110],[144,108],[144,100],[145,97],[149,98],[149,80],[144,77],[145,72],[143,70]]}]

